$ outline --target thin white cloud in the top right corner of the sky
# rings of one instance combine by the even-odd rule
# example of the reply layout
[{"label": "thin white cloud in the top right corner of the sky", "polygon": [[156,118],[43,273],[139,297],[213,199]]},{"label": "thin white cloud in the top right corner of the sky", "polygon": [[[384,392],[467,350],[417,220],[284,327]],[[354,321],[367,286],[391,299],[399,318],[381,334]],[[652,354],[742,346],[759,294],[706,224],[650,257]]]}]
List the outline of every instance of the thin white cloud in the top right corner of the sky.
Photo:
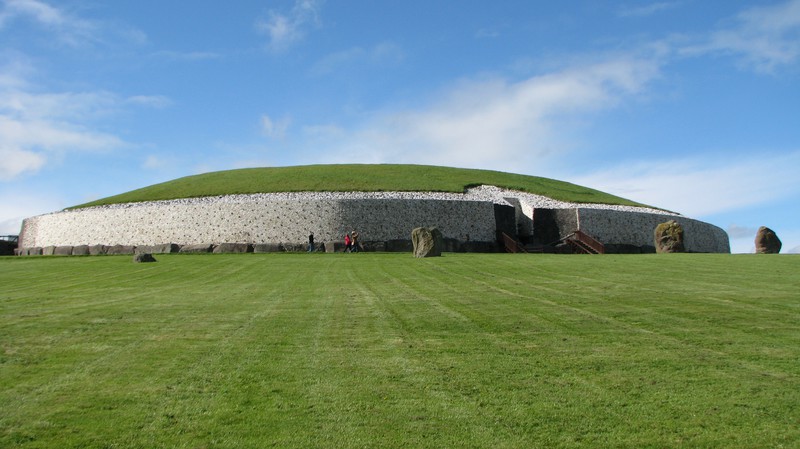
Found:
[{"label": "thin white cloud in the top right corner of the sky", "polygon": [[681,53],[732,54],[759,72],[797,62],[800,58],[800,0],[752,8],[739,14],[734,25],[713,32],[706,42]]}]

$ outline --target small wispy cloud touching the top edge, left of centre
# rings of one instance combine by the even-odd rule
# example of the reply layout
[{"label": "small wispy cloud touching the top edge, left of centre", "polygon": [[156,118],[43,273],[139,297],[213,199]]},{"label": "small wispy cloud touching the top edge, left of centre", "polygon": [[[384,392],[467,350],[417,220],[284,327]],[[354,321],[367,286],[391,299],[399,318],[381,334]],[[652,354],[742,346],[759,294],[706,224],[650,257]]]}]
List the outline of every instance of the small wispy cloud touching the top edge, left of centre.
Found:
[{"label": "small wispy cloud touching the top edge, left of centre", "polygon": [[282,14],[270,10],[268,18],[256,22],[256,30],[269,38],[272,51],[284,51],[305,37],[306,28],[319,23],[321,0],[296,0],[292,11]]}]

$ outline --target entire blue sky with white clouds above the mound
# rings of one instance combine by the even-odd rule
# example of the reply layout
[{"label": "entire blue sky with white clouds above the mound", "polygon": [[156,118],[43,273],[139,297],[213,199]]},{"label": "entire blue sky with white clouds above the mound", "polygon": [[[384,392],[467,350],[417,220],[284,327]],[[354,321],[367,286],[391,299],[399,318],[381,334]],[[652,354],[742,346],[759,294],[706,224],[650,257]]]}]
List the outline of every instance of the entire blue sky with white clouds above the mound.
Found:
[{"label": "entire blue sky with white clouds above the mound", "polygon": [[0,0],[0,234],[207,171],[562,179],[800,252],[800,0]]}]

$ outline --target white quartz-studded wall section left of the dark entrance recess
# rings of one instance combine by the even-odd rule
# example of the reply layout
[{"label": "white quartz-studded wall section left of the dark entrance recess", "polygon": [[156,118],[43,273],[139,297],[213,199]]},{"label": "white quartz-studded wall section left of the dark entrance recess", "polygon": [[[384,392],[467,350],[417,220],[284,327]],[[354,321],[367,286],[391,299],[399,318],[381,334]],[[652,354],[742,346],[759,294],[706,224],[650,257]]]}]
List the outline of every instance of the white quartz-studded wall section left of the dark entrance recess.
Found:
[{"label": "white quartz-studded wall section left of the dark entrance recess", "polygon": [[185,200],[92,207],[28,218],[20,247],[179,245],[410,239],[419,226],[444,237],[494,241],[491,202],[415,199]]}]

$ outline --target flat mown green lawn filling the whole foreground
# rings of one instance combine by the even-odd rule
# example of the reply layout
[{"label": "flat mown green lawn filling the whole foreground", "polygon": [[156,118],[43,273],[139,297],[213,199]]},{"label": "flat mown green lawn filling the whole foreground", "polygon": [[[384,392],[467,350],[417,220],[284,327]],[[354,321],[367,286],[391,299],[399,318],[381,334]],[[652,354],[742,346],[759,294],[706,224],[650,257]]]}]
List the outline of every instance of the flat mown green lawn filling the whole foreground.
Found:
[{"label": "flat mown green lawn filling the whole foreground", "polygon": [[0,447],[800,447],[800,256],[0,258]]}]

